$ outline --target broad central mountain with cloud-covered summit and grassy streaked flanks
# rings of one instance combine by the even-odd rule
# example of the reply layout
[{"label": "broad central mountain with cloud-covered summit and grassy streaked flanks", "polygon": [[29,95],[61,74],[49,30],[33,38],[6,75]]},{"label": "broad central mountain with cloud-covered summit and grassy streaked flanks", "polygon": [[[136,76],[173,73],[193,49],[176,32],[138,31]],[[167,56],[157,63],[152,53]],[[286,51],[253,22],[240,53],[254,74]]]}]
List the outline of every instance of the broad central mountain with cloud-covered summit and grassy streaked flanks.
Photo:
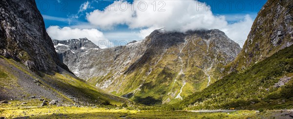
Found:
[{"label": "broad central mountain with cloud-covered summit and grassy streaked flanks", "polygon": [[115,95],[144,104],[172,103],[216,81],[240,50],[217,29],[160,29],[126,46],[87,50],[65,64],[78,61],[77,69],[69,67],[76,75]]}]

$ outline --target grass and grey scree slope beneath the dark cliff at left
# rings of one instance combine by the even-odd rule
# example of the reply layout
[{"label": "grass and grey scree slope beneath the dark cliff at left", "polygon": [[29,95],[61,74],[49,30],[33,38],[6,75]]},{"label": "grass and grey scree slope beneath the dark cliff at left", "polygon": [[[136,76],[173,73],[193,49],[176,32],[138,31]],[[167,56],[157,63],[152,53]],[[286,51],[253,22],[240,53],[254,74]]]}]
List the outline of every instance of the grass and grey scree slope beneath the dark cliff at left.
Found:
[{"label": "grass and grey scree slope beneath the dark cliff at left", "polygon": [[0,56],[0,64],[0,100],[28,100],[35,96],[79,105],[132,103],[126,98],[105,93],[61,68],[61,72],[51,74],[39,72],[40,76],[13,59]]}]

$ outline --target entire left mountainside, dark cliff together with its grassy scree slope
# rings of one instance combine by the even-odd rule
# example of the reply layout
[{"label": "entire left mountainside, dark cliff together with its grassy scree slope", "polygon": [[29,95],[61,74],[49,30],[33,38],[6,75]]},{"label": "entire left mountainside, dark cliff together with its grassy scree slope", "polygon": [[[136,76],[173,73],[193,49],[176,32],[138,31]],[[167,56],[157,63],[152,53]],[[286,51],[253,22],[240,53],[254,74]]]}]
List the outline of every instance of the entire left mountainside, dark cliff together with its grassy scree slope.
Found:
[{"label": "entire left mountainside, dark cliff together with its grassy scree slope", "polygon": [[131,103],[68,71],[35,1],[0,0],[0,100],[54,99],[59,105],[84,106]]}]

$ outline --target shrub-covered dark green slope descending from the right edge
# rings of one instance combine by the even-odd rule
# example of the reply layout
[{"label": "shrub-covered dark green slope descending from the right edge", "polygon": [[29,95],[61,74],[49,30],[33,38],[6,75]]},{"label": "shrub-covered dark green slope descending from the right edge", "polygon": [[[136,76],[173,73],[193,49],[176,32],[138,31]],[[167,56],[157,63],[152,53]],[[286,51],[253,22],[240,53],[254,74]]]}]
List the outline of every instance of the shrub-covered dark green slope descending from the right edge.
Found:
[{"label": "shrub-covered dark green slope descending from the right edge", "polygon": [[[280,79],[285,85],[275,87]],[[245,72],[233,72],[171,109],[293,108],[293,46],[282,49]],[[254,104],[253,104],[254,103]]]}]

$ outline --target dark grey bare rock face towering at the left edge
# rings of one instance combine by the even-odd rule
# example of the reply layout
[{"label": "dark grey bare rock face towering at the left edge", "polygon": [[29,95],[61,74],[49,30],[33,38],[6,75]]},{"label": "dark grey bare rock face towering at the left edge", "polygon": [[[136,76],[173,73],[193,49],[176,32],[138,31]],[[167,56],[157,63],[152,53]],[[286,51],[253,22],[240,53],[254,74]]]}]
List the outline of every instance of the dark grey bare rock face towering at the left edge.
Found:
[{"label": "dark grey bare rock face towering at the left edge", "polygon": [[0,1],[0,55],[21,61],[30,70],[58,71],[60,62],[34,0]]}]

